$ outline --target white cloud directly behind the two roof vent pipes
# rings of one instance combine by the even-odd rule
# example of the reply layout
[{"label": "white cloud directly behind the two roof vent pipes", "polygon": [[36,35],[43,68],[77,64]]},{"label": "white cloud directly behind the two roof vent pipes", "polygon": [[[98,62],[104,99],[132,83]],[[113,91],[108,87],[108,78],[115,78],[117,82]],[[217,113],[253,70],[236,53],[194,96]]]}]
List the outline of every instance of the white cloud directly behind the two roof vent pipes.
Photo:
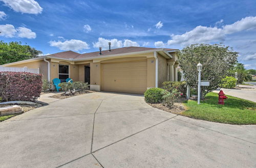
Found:
[{"label": "white cloud directly behind the two roof vent pipes", "polygon": [[103,50],[109,49],[109,42],[111,42],[111,48],[120,48],[123,46],[123,43],[121,40],[117,39],[104,39],[102,37],[98,38],[98,41],[96,43],[93,43],[94,48],[102,47]]}]

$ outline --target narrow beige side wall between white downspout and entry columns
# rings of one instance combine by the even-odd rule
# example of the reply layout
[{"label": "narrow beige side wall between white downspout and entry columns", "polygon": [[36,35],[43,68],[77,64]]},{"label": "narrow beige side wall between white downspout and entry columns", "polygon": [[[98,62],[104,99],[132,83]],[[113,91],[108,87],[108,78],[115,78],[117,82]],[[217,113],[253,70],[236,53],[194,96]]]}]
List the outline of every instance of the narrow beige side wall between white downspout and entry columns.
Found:
[{"label": "narrow beige side wall between white downspout and entry columns", "polygon": [[164,81],[168,80],[167,60],[162,55],[158,54],[158,87],[161,88]]}]

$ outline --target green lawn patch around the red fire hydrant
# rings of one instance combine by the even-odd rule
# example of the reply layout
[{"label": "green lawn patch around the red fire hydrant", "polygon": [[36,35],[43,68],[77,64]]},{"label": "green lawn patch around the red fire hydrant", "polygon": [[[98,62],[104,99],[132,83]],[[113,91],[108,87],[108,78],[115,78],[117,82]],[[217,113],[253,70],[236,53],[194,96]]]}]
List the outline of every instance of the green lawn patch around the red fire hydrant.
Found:
[{"label": "green lawn patch around the red fire hydrant", "polygon": [[256,124],[256,103],[228,96],[225,105],[218,104],[218,94],[208,93],[201,104],[195,100],[184,102],[187,107],[181,115],[228,124]]}]

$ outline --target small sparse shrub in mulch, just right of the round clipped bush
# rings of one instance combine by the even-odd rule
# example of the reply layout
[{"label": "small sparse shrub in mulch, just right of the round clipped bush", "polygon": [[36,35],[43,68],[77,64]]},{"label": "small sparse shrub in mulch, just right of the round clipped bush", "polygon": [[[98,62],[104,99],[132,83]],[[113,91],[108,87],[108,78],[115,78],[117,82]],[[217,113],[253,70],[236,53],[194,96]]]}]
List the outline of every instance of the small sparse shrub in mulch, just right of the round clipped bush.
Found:
[{"label": "small sparse shrub in mulch, just right of the round clipped bush", "polygon": [[177,89],[173,89],[171,92],[163,90],[163,105],[171,108],[175,101],[181,96],[181,93]]}]

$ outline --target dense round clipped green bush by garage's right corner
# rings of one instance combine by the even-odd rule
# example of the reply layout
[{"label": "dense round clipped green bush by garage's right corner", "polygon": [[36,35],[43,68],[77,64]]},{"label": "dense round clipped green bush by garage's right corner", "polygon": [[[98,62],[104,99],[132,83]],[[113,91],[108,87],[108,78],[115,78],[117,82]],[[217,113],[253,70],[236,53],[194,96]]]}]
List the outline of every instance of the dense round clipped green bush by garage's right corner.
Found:
[{"label": "dense round clipped green bush by garage's right corner", "polygon": [[161,103],[163,101],[163,89],[151,88],[144,93],[145,101],[147,103]]}]

